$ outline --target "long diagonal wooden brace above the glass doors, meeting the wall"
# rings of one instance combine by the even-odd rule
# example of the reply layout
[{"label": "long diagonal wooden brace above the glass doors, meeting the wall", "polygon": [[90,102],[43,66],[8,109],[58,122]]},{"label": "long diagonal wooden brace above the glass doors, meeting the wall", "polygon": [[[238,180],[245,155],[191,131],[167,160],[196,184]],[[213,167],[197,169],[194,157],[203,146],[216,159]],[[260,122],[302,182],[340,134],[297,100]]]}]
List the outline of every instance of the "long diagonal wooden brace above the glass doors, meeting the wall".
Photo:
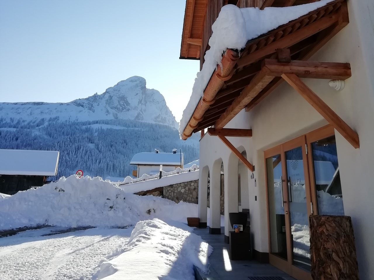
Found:
[{"label": "long diagonal wooden brace above the glass doors, meeting the wall", "polygon": [[313,106],[353,147],[360,147],[358,134],[295,74],[283,74],[282,78]]}]

